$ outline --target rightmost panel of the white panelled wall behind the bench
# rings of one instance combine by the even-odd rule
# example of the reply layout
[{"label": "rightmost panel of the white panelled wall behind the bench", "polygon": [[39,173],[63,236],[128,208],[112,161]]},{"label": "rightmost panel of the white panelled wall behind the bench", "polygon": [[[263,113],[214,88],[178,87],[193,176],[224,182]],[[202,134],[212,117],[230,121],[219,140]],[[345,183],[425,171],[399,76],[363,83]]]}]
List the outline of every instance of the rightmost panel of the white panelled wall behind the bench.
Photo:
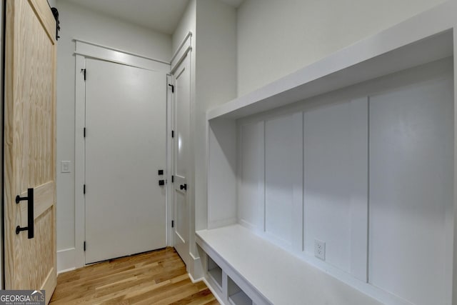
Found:
[{"label": "rightmost panel of the white panelled wall behind the bench", "polygon": [[368,280],[413,304],[451,299],[452,73],[370,96]]}]

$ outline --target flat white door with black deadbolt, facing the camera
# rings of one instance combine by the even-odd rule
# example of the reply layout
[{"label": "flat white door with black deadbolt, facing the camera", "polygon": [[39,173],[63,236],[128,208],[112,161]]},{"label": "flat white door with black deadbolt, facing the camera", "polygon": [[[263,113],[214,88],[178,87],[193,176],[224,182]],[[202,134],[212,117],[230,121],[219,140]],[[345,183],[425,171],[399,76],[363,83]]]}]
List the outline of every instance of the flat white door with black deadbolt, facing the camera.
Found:
[{"label": "flat white door with black deadbolt, facing the camera", "polygon": [[86,264],[166,246],[166,76],[86,59]]}]

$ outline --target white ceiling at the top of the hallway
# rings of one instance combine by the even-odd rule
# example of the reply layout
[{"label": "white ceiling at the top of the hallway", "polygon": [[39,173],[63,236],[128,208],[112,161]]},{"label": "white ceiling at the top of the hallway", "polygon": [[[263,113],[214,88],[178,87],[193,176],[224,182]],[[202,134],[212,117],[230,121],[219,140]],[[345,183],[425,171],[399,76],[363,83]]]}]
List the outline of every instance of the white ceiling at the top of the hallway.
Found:
[{"label": "white ceiling at the top of the hallway", "polygon": [[[65,0],[161,33],[173,34],[189,0]],[[221,0],[238,7],[243,0]]]}]

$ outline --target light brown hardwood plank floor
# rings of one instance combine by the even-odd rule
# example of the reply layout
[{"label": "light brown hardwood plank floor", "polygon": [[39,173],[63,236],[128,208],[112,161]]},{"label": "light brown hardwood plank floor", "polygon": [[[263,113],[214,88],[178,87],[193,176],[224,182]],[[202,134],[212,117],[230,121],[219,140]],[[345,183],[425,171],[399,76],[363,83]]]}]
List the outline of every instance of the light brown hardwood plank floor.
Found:
[{"label": "light brown hardwood plank floor", "polygon": [[204,282],[192,284],[173,248],[59,274],[50,304],[219,304]]}]

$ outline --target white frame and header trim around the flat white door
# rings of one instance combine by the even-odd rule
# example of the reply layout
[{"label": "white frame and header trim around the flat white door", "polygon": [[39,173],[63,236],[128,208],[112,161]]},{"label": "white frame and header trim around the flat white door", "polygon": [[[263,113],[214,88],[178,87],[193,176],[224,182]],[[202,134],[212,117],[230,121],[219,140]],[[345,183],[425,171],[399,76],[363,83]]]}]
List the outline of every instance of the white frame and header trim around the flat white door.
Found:
[{"label": "white frame and header trim around the flat white door", "polygon": [[[165,61],[151,59],[146,56],[113,49],[108,46],[102,46],[89,41],[74,39],[75,41],[75,58],[76,58],[76,88],[75,88],[75,249],[74,249],[74,266],[76,268],[82,267],[85,264],[84,255],[84,236],[85,236],[85,216],[84,216],[84,126],[85,126],[85,113],[86,113],[86,85],[84,83],[84,76],[82,71],[85,69],[86,58],[100,59],[104,61],[111,61],[116,64],[124,64],[127,66],[134,66],[136,68],[147,69],[151,71],[161,71],[164,73],[164,86],[166,84],[166,76],[170,71],[170,64]],[[168,92],[168,91],[167,91]],[[167,104],[169,104],[169,94],[167,94]],[[167,109],[170,106],[167,105]],[[169,133],[169,114],[167,114],[167,134]],[[166,147],[169,147],[169,137],[166,137]],[[169,165],[169,151],[166,152],[166,164]],[[167,177],[169,177],[168,168],[165,170]],[[169,187],[167,187],[166,196],[166,236],[167,246],[173,245],[173,240],[169,238],[172,214],[169,214]]]}]

